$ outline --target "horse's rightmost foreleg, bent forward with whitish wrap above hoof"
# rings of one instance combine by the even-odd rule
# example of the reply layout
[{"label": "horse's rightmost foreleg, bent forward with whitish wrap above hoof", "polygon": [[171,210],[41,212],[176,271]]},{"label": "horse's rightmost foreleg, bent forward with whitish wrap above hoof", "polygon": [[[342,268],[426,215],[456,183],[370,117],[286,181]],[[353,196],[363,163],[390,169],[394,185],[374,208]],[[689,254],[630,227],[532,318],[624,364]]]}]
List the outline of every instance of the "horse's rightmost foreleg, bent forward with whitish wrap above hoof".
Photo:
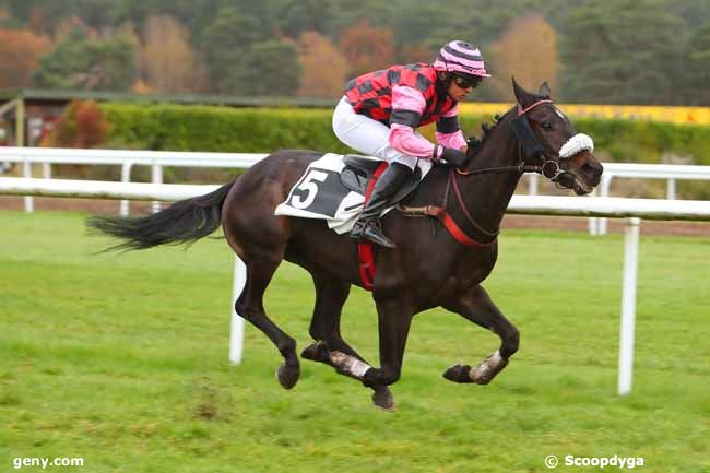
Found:
[{"label": "horse's rightmost foreleg, bent forward with whitish wrap above hoof", "polygon": [[508,359],[518,351],[520,334],[518,329],[498,310],[486,291],[476,285],[472,291],[461,295],[455,300],[443,305],[443,308],[460,314],[465,319],[490,330],[500,336],[500,348],[484,359],[478,366],[454,365],[443,377],[454,382],[475,382],[487,385],[495,376],[508,366]]}]

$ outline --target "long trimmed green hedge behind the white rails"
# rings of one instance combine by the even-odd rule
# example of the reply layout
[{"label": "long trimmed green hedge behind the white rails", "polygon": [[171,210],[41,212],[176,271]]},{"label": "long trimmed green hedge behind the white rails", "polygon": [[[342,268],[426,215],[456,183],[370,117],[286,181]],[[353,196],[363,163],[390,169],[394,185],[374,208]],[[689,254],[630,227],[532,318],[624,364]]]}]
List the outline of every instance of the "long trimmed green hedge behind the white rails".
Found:
[{"label": "long trimmed green hedge behind the white rails", "polygon": [[[279,149],[347,152],[331,129],[331,110],[226,108],[187,105],[102,104],[113,125],[109,141],[145,150],[268,153]],[[482,120],[462,116],[466,133],[481,134]],[[710,127],[641,120],[576,119],[596,151],[617,162],[659,163],[674,154],[710,165]],[[423,130],[431,138],[431,127]]]}]

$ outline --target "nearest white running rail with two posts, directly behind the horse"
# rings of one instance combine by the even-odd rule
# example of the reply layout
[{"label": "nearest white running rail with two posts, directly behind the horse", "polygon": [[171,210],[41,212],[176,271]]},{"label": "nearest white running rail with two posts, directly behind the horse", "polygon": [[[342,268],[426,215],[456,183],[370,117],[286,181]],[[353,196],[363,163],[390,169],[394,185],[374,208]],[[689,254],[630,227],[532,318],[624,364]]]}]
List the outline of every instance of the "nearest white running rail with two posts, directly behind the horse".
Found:
[{"label": "nearest white running rail with two posts, directly behind the horse", "polygon": [[[0,178],[0,194],[140,200],[156,199],[173,201],[200,196],[210,192],[215,188],[216,186]],[[536,215],[627,217],[624,282],[622,289],[618,393],[628,394],[631,390],[634,365],[639,217],[651,220],[710,221],[710,202],[603,197],[513,196],[508,212]],[[232,298],[233,317],[229,345],[229,359],[233,363],[239,363],[242,353],[244,320],[234,311],[234,303],[237,296],[241,293],[244,279],[245,268],[237,259],[235,264],[234,292]]]}]

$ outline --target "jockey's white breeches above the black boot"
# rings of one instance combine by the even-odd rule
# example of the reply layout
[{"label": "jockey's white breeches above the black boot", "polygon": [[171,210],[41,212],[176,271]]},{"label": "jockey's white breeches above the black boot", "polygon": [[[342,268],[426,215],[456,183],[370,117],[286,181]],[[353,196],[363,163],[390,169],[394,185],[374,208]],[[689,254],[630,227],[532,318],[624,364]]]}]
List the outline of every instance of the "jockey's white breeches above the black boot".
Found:
[{"label": "jockey's white breeches above the black boot", "polygon": [[333,111],[333,131],[340,141],[365,155],[388,163],[401,163],[410,169],[416,167],[418,157],[407,156],[390,146],[389,127],[365,115],[356,114],[345,97]]}]

